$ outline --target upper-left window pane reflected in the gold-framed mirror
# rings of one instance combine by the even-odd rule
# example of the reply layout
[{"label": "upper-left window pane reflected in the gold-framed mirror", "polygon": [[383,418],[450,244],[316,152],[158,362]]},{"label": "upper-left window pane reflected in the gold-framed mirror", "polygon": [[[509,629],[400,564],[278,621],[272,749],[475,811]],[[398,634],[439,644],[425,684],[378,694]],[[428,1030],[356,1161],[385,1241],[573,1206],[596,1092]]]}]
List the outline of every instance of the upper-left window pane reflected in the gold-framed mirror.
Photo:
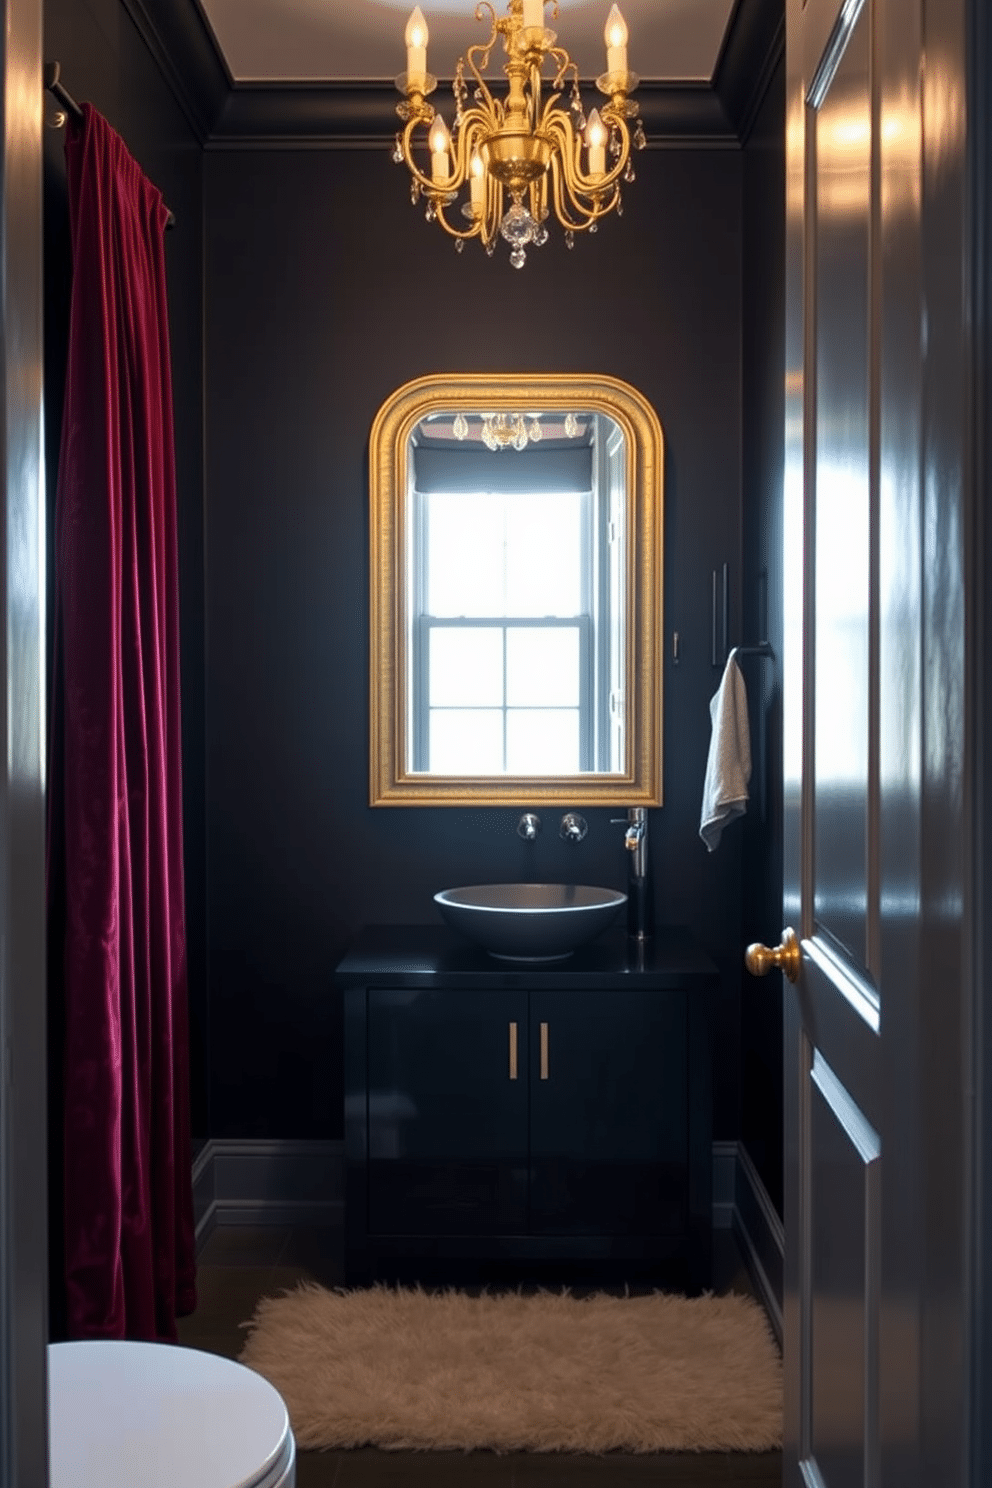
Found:
[{"label": "upper-left window pane reflected in the gold-framed mirror", "polygon": [[504,615],[503,497],[424,497],[427,512],[427,613]]}]

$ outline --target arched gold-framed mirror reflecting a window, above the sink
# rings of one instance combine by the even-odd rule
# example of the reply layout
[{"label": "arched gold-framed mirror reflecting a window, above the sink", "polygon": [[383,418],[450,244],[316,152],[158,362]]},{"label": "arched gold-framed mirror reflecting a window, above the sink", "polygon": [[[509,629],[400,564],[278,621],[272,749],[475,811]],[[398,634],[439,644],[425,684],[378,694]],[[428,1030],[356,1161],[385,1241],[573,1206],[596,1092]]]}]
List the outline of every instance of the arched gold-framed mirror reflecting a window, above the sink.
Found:
[{"label": "arched gold-framed mirror reflecting a window, above the sink", "polygon": [[443,373],[369,446],[372,805],[660,805],[663,436],[617,378]]}]

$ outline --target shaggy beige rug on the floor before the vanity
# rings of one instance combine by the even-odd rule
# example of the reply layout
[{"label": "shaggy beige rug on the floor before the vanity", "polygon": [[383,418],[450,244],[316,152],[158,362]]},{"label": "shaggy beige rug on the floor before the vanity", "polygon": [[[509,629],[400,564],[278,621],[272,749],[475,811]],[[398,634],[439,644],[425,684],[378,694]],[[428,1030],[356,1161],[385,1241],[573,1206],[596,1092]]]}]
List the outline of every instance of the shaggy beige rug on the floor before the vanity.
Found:
[{"label": "shaggy beige rug on the floor before the vanity", "polygon": [[283,1394],[303,1448],[781,1445],[781,1360],[748,1298],[303,1284],[242,1326],[241,1362]]}]

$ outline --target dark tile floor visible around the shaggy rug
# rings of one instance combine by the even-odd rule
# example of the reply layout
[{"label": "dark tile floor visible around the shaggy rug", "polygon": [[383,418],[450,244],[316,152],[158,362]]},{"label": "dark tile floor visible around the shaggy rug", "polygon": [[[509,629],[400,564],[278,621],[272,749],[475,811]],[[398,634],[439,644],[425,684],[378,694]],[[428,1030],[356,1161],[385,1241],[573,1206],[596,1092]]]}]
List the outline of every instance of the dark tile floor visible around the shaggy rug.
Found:
[{"label": "dark tile floor visible around the shaggy rug", "polygon": [[[339,1231],[223,1226],[199,1254],[196,1312],[180,1344],[236,1359],[259,1298],[312,1280],[341,1286]],[[714,1286],[751,1292],[729,1232],[717,1232]],[[297,1488],[779,1488],[779,1452],[299,1452]]]}]

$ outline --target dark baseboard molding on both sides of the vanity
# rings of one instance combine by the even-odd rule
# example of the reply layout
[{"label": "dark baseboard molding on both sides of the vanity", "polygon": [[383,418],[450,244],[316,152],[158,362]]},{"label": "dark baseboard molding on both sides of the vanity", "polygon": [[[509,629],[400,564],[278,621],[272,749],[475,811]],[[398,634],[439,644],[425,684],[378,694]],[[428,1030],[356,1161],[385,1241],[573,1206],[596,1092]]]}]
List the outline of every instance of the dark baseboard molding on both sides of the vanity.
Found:
[{"label": "dark baseboard molding on both sides of the vanity", "polygon": [[[344,1141],[207,1141],[193,1162],[199,1251],[217,1225],[342,1225]],[[782,1341],[785,1232],[739,1141],[712,1144],[712,1228],[730,1229]]]}]

